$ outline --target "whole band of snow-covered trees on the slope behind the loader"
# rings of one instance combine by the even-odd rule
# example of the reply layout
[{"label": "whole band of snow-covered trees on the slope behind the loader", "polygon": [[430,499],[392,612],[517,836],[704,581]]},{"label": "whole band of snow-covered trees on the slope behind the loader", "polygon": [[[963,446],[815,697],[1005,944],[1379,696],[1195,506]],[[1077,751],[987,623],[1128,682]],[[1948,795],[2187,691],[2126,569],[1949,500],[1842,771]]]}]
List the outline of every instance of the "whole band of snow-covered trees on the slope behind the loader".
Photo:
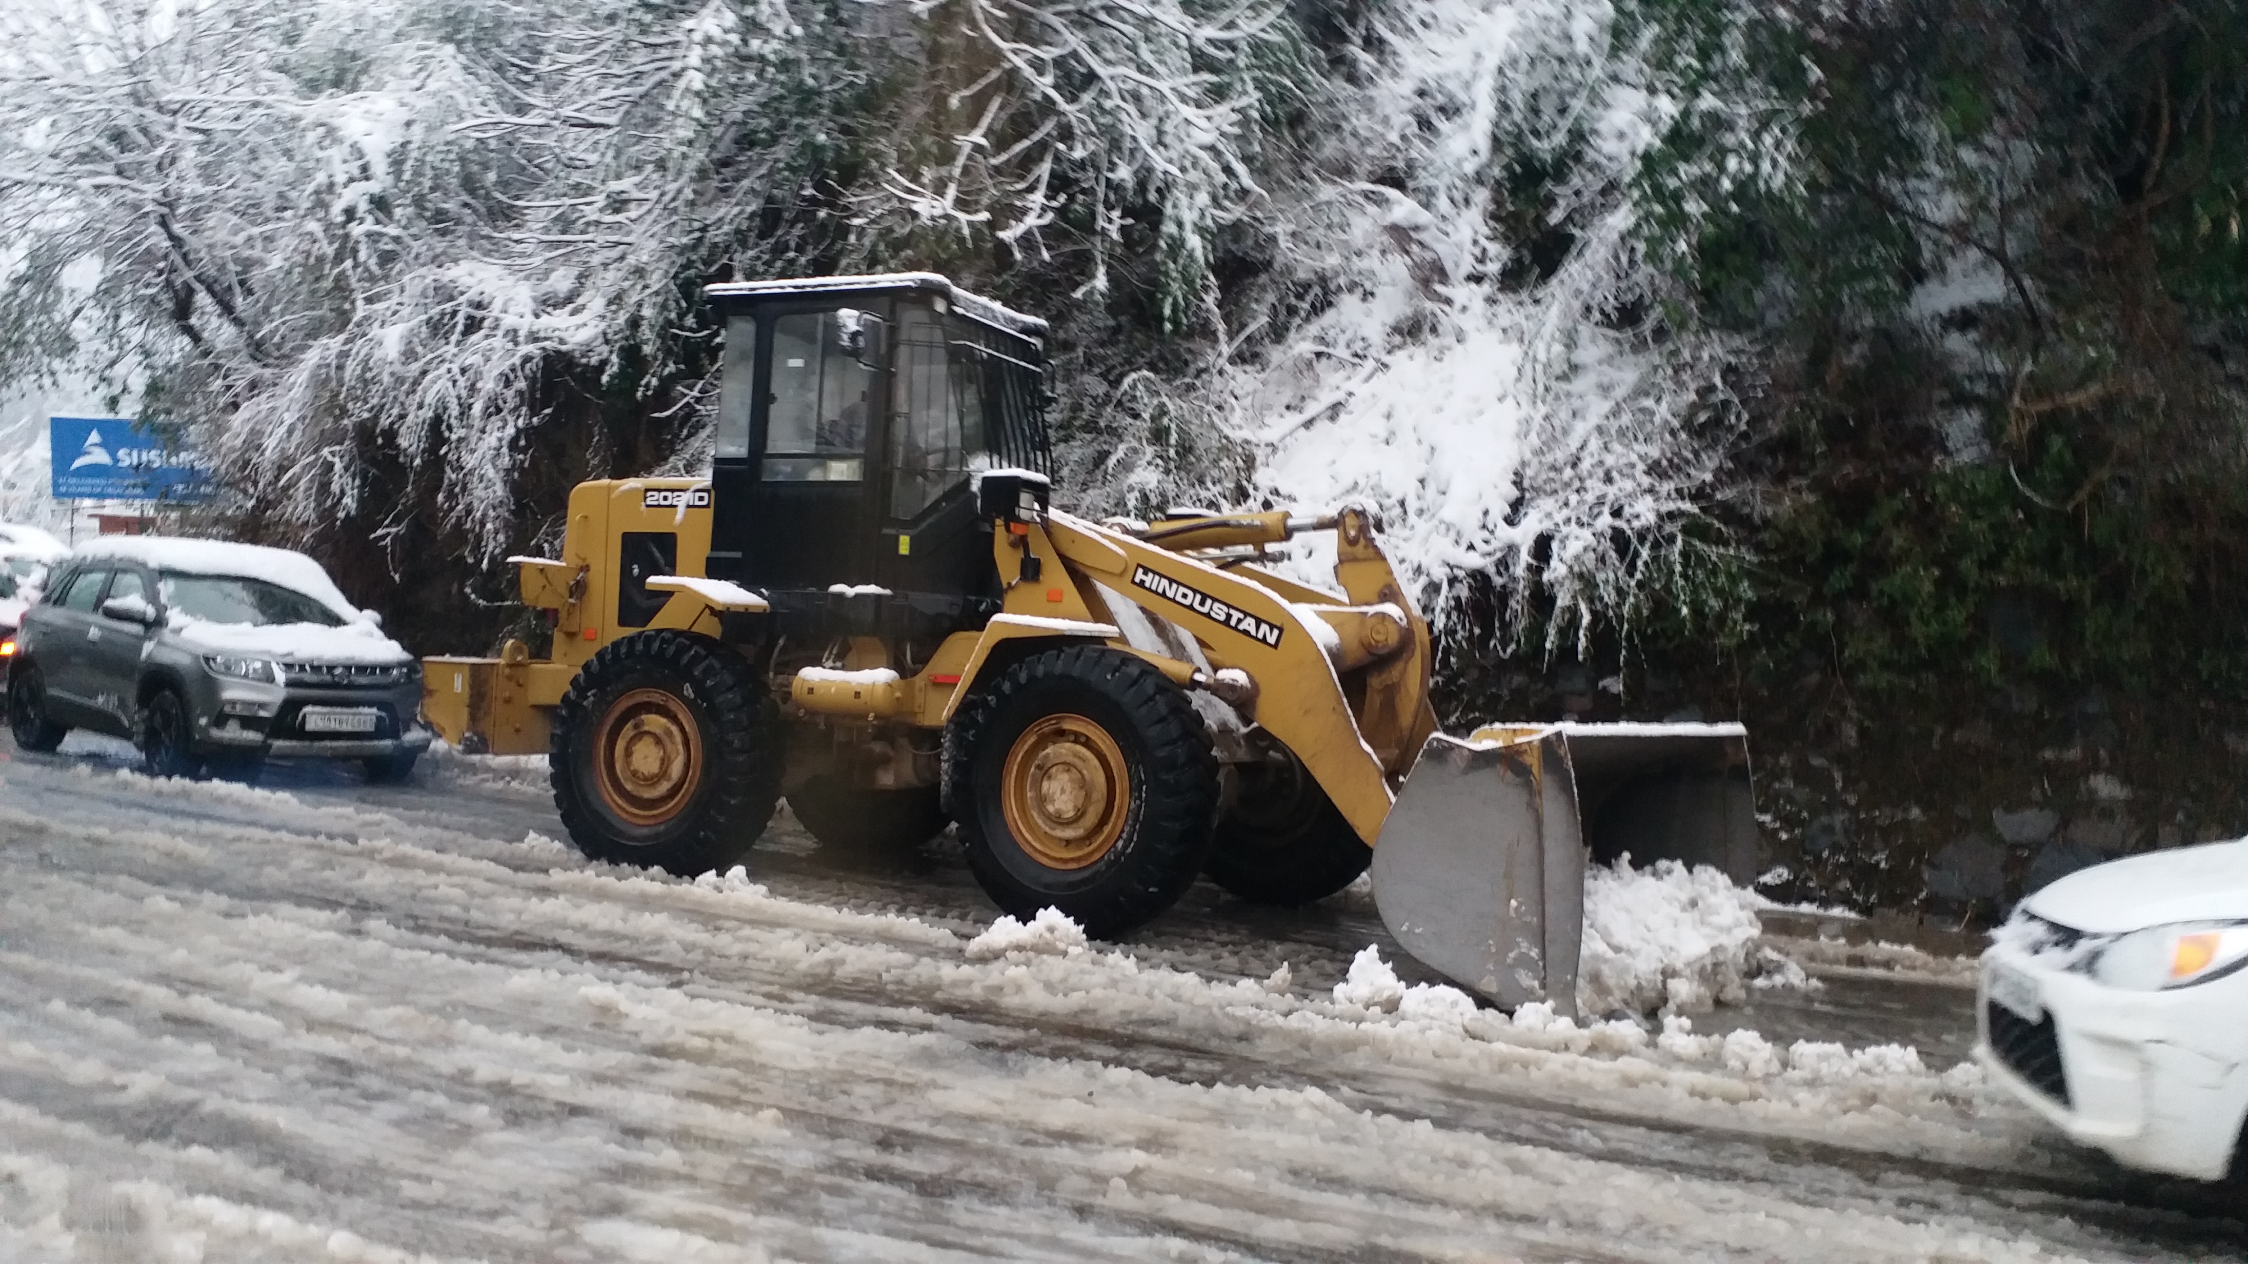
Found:
[{"label": "whole band of snow-covered trees on the slope behind the loader", "polygon": [[706,457],[704,281],[937,265],[1061,317],[1086,504],[1365,497],[1439,605],[1479,571],[1621,612],[1731,434],[1735,349],[1652,315],[1688,202],[1659,193],[1787,171],[1787,108],[1704,90],[1733,49],[1679,29],[1610,0],[43,0],[0,13],[0,378],[106,373],[268,517],[434,511],[495,558],[540,461]]}]

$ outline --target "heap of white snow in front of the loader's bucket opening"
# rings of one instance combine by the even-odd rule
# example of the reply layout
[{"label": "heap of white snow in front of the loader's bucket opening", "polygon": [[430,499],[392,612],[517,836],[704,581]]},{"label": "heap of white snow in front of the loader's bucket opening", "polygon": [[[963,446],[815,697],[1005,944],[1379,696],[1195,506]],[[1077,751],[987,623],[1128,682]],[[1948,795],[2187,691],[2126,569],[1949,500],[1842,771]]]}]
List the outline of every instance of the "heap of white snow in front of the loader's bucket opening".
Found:
[{"label": "heap of white snow in front of the loader's bucket opening", "polygon": [[[1756,895],[1711,868],[1594,868],[1585,875],[1580,1014],[1650,1014],[1738,1003],[1760,969]],[[1794,972],[1801,978],[1801,972]]]}]

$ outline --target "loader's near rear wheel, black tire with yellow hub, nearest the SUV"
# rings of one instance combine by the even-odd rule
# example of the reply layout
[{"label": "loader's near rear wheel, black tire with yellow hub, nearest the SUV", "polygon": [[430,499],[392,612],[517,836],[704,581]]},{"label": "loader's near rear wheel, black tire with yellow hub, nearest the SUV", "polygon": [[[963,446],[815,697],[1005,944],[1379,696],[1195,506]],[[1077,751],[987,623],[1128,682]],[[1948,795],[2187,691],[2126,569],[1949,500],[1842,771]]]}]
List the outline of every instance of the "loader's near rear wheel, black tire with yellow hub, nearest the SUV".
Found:
[{"label": "loader's near rear wheel, black tire with yellow hub, nearest the SUV", "polygon": [[[636,733],[636,722],[654,729]],[[647,733],[661,733],[650,740],[663,751],[665,738],[681,749],[692,740],[681,774],[650,783],[661,798],[634,796],[627,780],[638,774],[625,756]],[[710,636],[656,630],[602,645],[578,670],[555,708],[549,776],[587,857],[695,877],[731,866],[764,832],[780,753],[778,708],[751,666]],[[652,762],[668,776],[668,756]]]}]

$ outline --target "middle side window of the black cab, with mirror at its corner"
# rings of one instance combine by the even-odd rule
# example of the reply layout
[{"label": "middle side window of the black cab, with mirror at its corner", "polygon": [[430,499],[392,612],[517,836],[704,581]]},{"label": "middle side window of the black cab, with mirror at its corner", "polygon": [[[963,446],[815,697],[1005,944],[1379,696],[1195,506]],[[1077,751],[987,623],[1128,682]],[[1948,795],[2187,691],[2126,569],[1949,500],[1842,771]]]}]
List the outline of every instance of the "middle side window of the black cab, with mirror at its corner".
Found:
[{"label": "middle side window of the black cab, with mirror at its corner", "polygon": [[773,385],[764,414],[764,481],[865,479],[874,369],[865,353],[874,317],[859,310],[785,315],[773,322]]}]

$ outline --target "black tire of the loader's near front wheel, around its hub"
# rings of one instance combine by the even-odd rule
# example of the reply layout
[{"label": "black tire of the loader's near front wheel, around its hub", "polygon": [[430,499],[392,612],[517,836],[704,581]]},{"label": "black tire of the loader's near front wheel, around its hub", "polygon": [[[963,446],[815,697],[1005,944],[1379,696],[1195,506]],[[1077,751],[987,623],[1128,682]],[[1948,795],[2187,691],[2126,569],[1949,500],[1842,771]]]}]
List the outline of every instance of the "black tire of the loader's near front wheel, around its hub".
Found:
[{"label": "black tire of the loader's near front wheel, around its hub", "polygon": [[[1054,729],[1079,722],[1090,726],[1084,738]],[[1102,758],[1120,760],[1128,796],[1115,807],[1106,792],[1099,801],[1095,828],[1102,837],[1113,832],[1111,843],[1093,843],[1102,850],[1090,859],[1057,866],[1021,841],[1007,819],[1009,769],[1034,771],[1048,756],[1009,760],[1023,744],[1093,749],[1093,729],[1106,733],[1111,747]],[[1059,735],[1041,747],[1041,731]],[[953,717],[944,778],[969,870],[991,902],[1016,918],[1054,906],[1099,938],[1131,931],[1185,895],[1209,855],[1218,814],[1218,765],[1187,695],[1146,661],[1104,645],[1045,650],[1000,672]]]}]

